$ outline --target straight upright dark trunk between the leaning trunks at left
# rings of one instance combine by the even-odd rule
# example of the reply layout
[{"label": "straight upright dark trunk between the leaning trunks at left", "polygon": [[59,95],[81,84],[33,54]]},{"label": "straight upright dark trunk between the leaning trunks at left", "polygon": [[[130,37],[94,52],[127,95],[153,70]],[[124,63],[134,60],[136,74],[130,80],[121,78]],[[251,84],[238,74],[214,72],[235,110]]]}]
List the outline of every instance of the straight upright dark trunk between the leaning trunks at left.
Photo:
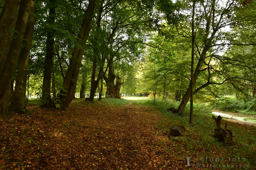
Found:
[{"label": "straight upright dark trunk between the leaning trunks at left", "polygon": [[[51,7],[49,9],[49,24],[52,25],[55,22],[55,2],[56,0],[50,0]],[[52,79],[52,57],[53,57],[53,44],[54,44],[54,31],[47,33],[46,39],[46,54],[44,62],[44,81],[42,86],[42,100],[41,107],[49,108],[52,106],[51,99],[51,79]]]}]

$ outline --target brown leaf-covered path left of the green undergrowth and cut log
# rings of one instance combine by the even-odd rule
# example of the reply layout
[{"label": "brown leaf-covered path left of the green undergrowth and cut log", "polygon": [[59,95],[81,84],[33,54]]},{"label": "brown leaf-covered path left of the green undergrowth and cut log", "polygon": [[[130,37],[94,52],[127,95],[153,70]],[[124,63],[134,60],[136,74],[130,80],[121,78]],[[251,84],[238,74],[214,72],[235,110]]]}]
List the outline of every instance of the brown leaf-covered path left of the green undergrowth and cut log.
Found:
[{"label": "brown leaf-covered path left of the green undergrowth and cut log", "polygon": [[[1,119],[4,169],[154,169],[171,166],[158,132],[159,111],[130,102],[106,106],[76,101],[66,111],[27,107]],[[11,128],[9,128],[11,127]],[[15,135],[14,135],[15,134]],[[0,143],[1,144],[1,143]]]}]

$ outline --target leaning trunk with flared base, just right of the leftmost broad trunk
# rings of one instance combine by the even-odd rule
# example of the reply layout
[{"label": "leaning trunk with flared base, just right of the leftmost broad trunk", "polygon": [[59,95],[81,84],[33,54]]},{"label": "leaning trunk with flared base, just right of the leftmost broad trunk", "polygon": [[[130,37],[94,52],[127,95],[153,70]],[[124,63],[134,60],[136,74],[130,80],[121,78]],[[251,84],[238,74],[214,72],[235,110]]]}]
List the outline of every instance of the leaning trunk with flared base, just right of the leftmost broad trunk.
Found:
[{"label": "leaning trunk with flared base, just right of the leftmost broad trunk", "polygon": [[34,1],[31,1],[30,11],[32,11],[32,15],[28,17],[28,22],[23,40],[23,44],[26,44],[26,48],[22,48],[20,51],[20,59],[15,80],[14,95],[11,98],[10,104],[10,108],[13,109],[13,111],[16,113],[22,113],[22,110],[26,108],[26,104],[28,102],[28,98],[26,98],[26,80],[28,74],[30,47],[33,38],[35,24]]}]

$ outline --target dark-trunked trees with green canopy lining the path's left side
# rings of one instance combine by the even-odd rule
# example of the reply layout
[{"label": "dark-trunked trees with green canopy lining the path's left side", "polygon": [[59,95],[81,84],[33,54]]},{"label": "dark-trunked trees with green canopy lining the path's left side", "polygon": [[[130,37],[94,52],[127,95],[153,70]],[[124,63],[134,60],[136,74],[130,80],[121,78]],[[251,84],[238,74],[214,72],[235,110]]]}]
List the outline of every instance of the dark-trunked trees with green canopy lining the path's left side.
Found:
[{"label": "dark-trunked trees with green canopy lining the path's left side", "polygon": [[35,84],[34,78],[42,80],[32,88],[37,88],[46,108],[64,110],[70,104],[79,73],[81,97],[90,79],[88,100],[93,101],[97,88],[101,98],[103,80],[106,95],[119,98],[131,63],[141,58],[148,33],[161,21],[159,11],[173,6],[168,1],[137,0],[5,0],[1,4],[2,114],[8,108],[17,113],[25,109],[26,89],[29,79]]}]

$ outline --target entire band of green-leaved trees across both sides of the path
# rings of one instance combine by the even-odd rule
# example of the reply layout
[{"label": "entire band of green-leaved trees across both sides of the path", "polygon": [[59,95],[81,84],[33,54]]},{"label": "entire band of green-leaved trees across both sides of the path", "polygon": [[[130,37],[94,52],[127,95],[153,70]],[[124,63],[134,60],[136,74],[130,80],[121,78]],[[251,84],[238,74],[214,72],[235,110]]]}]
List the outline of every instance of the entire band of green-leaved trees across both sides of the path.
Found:
[{"label": "entire band of green-leaved trees across both sides of the path", "polygon": [[62,110],[75,92],[83,98],[90,91],[93,101],[96,91],[99,100],[104,92],[119,98],[157,91],[181,101],[181,115],[191,94],[207,100],[203,94],[217,97],[227,87],[256,95],[253,1],[1,3],[3,114],[25,109],[26,89],[42,107]]}]

